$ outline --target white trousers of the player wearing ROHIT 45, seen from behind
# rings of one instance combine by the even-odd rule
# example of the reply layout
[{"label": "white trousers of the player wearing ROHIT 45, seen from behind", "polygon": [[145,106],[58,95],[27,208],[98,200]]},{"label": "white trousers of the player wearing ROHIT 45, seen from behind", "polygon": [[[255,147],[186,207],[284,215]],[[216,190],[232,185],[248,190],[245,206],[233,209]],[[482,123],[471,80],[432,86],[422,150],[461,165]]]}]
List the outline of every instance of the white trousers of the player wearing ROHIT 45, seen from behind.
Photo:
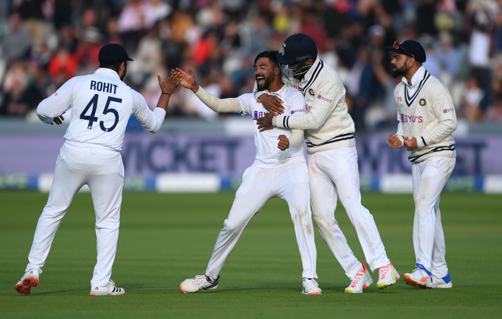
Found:
[{"label": "white trousers of the player wearing ROHIT 45, seen from behind", "polygon": [[96,214],[97,263],[92,286],[106,286],[115,259],[122,201],[120,153],[102,145],[66,141],[59,152],[49,200],[38,220],[26,270],[42,271],[61,219],[73,196],[87,184]]}]

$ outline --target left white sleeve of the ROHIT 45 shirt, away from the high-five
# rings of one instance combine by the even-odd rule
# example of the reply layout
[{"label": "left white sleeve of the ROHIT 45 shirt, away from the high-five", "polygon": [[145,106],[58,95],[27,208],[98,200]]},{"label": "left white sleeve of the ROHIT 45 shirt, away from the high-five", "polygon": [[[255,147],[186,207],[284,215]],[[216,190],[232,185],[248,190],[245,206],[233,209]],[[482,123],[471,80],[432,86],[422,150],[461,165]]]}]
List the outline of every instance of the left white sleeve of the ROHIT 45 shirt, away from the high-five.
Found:
[{"label": "left white sleeve of the ROHIT 45 shirt, away from the high-five", "polygon": [[55,117],[71,108],[73,88],[83,76],[75,76],[66,81],[56,92],[38,104],[37,116],[40,121],[50,124]]}]

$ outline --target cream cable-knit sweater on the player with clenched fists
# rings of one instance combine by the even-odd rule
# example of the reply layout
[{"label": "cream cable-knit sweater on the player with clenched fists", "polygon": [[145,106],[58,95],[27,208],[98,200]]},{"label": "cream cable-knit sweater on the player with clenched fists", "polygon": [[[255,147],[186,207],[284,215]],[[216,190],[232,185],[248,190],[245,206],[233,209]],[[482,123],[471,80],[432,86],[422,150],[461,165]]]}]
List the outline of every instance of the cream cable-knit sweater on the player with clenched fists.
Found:
[{"label": "cream cable-knit sweater on the player with clenched fists", "polygon": [[417,148],[410,151],[411,162],[431,157],[456,157],[451,133],[457,129],[457,117],[450,92],[422,66],[413,75],[412,85],[403,77],[396,86],[398,132],[401,142],[408,136],[417,139]]}]

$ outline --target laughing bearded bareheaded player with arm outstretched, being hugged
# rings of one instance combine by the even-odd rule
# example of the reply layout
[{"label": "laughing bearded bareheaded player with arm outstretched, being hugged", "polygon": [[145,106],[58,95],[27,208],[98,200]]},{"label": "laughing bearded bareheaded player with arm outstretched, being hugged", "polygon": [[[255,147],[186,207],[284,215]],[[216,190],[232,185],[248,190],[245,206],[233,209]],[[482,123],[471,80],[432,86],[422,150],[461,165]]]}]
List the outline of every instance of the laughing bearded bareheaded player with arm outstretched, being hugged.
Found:
[{"label": "laughing bearded bareheaded player with arm outstretched, being hugged", "polygon": [[[255,76],[258,86],[283,99],[287,114],[304,114],[306,108],[303,95],[281,81],[281,69],[276,56],[277,51],[265,51],[256,57]],[[255,121],[267,112],[253,93],[242,94],[237,98],[219,99],[195,82],[190,69],[189,73],[180,69],[177,71],[181,73],[181,85],[192,89],[213,111],[250,114]],[[180,284],[182,292],[216,289],[220,271],[244,228],[269,199],[279,197],[288,203],[295,228],[303,264],[302,293],[321,294],[321,289],[314,279],[317,278],[317,252],[302,142],[302,130],[277,128],[261,133],[255,127],[255,162],[242,176],[242,184],[235,193],[235,200],[216,240],[206,273],[183,281]]]}]

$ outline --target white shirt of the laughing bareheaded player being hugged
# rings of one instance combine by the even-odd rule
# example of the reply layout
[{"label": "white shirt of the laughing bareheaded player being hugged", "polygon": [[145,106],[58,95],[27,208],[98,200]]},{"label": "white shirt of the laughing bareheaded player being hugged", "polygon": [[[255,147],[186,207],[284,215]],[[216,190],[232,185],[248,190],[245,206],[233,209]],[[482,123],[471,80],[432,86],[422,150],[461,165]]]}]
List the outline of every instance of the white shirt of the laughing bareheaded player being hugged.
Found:
[{"label": "white shirt of the laughing bareheaded player being hugged", "polygon": [[[307,108],[305,107],[305,99],[303,94],[289,86],[284,84],[283,87],[277,92],[268,92],[271,95],[277,95],[284,101],[284,115],[295,116],[297,114],[305,114]],[[258,120],[263,117],[265,113],[268,113],[262,102],[257,100],[253,93],[242,94],[237,97],[242,108],[243,114],[250,114],[253,117],[253,121]],[[277,121],[285,120],[283,116],[278,116]],[[291,129],[288,128],[273,128],[272,130],[267,130],[260,132],[258,130],[258,125],[255,125],[255,145],[256,145],[256,157],[255,162],[252,166],[257,166],[261,168],[278,168],[286,166],[293,163],[299,163],[305,165],[305,151],[303,148],[303,143],[298,144],[295,147],[290,147],[285,151],[281,151],[277,148],[279,140],[277,139],[279,135],[285,135],[288,139],[291,136]]]}]

